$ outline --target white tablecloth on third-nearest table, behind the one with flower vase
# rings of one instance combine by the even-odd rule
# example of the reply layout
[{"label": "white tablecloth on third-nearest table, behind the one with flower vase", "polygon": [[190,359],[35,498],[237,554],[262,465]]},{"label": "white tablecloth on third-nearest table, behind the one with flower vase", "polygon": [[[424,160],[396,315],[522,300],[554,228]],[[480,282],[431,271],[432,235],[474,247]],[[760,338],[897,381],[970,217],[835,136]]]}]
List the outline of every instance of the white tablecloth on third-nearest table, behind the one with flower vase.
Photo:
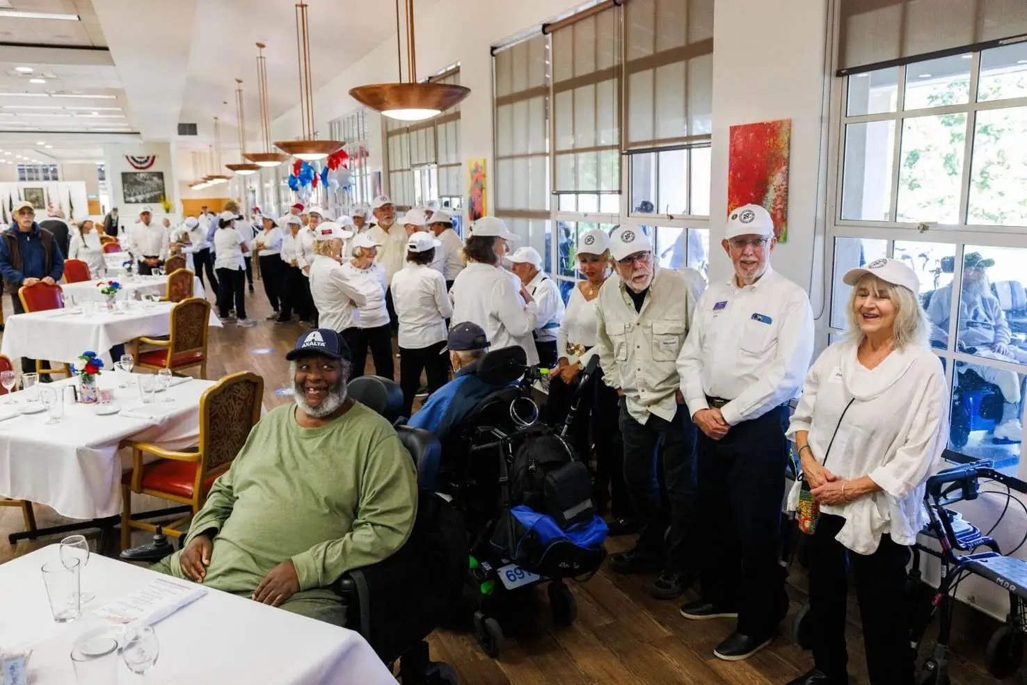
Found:
[{"label": "white tablecloth on third-nearest table, behind the one with flower vase", "polygon": [[[174,302],[138,303],[125,312],[109,312],[106,307],[88,316],[74,309],[50,309],[14,314],[5,321],[0,352],[16,359],[49,359],[75,364],[78,355],[92,350],[110,369],[110,348],[140,336],[166,336],[172,331]],[[211,311],[210,325],[221,328]]]}]

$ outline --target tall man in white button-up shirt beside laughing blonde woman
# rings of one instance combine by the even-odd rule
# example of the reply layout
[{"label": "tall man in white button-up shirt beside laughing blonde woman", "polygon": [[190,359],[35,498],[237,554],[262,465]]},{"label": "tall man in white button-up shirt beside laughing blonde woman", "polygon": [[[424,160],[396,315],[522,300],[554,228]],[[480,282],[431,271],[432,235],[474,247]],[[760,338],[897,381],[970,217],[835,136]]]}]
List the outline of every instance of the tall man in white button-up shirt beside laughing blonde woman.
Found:
[{"label": "tall man in white button-up shirt beside laughing blonde woman", "polygon": [[806,293],[770,268],[774,243],[762,206],[731,213],[721,244],[734,273],[699,300],[678,358],[700,429],[698,506],[717,537],[716,553],[701,558],[701,599],[681,614],[737,618],[714,649],[729,661],[766,646],[788,611],[778,563],[785,429],[813,352],[813,314]]}]

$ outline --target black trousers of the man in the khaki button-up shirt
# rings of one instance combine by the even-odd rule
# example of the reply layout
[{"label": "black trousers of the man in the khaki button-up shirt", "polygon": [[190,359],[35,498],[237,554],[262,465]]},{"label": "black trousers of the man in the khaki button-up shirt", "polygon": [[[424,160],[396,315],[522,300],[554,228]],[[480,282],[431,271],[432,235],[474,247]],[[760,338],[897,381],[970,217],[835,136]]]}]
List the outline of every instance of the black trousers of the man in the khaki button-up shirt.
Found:
[{"label": "black trousers of the man in the khaki button-up shirt", "polygon": [[[624,483],[635,519],[642,525],[636,547],[638,555],[664,558],[663,567],[670,571],[694,567],[695,563],[686,559],[689,548],[696,550],[692,543],[696,532],[695,424],[688,416],[688,409],[679,405],[674,420],[651,414],[641,424],[621,402],[620,434],[624,441]],[[660,470],[667,492],[665,506],[660,496]],[[671,534],[664,557],[663,533],[668,523]]]}]

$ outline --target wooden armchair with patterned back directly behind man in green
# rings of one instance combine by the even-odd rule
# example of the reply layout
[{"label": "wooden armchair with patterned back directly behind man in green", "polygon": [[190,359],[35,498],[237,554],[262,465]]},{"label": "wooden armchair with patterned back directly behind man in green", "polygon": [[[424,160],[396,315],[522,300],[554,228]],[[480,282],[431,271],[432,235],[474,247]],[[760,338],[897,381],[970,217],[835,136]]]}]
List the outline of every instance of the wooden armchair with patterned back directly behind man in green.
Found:
[{"label": "wooden armchair with patterned back directly behind man in green", "polygon": [[[199,401],[199,445],[173,452],[150,443],[134,443],[132,467],[121,477],[121,548],[131,546],[131,531],[155,531],[156,526],[131,518],[131,493],[152,495],[188,504],[192,513],[167,526],[165,535],[181,537],[189,528],[215,480],[228,470],[260,420],[264,379],[243,371],[225,376],[203,392]],[[158,457],[143,463],[144,455]]]}]

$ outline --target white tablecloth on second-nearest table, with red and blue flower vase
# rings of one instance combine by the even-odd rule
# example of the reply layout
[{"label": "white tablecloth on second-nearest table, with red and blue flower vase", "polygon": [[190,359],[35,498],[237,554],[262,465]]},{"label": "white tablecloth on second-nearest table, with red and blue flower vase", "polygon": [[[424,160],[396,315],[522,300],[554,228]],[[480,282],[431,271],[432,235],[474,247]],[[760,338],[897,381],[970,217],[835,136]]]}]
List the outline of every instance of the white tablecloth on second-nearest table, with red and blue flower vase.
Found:
[{"label": "white tablecloth on second-nearest table, with red and blue flower vase", "polygon": [[[114,392],[122,409],[142,407],[136,385],[141,374],[132,374],[131,387],[119,388],[123,373],[102,373],[101,388]],[[62,389],[71,381],[42,387]],[[96,405],[65,405],[64,419],[44,425],[46,412],[0,421],[0,496],[27,499],[56,509],[71,519],[101,519],[121,512],[121,472],[131,467],[131,453],[118,444],[123,440],[156,443],[169,450],[196,445],[199,439],[199,397],[214,381],[191,380],[169,388],[173,403],[160,402],[156,393],[146,409],[163,416],[127,418],[117,414],[98,416]],[[25,392],[11,399],[24,402]],[[2,404],[0,411],[12,406]],[[0,612],[2,615],[2,612]]]}]

